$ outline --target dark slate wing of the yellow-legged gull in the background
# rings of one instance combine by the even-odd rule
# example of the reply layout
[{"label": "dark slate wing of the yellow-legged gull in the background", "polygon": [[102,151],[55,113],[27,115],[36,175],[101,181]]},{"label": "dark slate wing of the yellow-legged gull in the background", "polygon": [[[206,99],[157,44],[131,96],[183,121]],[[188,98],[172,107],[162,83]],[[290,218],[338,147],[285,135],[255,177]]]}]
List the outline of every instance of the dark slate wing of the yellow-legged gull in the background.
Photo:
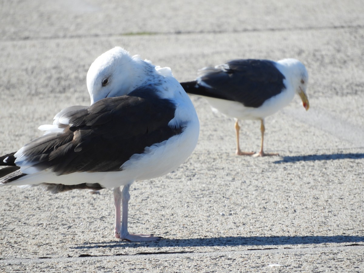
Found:
[{"label": "dark slate wing of the yellow-legged gull in the background", "polygon": [[233,100],[247,107],[260,107],[285,88],[284,75],[270,60],[232,60],[200,73],[197,81],[205,90],[197,95]]}]

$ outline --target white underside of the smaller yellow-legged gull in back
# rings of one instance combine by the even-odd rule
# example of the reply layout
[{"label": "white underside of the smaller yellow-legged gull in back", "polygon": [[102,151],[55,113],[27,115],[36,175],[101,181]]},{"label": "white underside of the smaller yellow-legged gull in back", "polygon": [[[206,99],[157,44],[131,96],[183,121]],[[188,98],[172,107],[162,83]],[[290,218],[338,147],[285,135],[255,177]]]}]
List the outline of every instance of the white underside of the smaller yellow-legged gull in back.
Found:
[{"label": "white underside of the smaller yellow-legged gull in back", "polygon": [[288,105],[294,97],[294,92],[282,91],[280,94],[266,100],[260,107],[246,107],[232,100],[205,97],[214,111],[237,119],[264,119]]}]

